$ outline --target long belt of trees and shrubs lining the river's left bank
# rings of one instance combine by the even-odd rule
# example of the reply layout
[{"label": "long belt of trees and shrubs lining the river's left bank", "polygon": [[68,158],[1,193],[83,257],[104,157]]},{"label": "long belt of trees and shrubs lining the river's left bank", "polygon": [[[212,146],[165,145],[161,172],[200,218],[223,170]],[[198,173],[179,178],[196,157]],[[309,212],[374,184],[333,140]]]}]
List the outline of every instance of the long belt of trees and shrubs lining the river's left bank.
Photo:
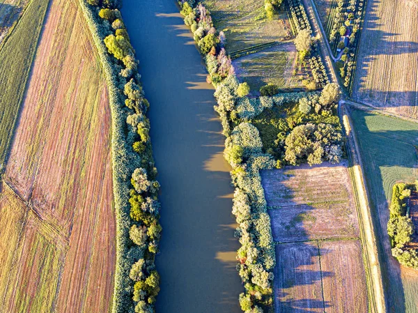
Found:
[{"label": "long belt of trees and shrubs lining the river's left bank", "polygon": [[116,273],[112,312],[154,312],[161,226],[149,136],[149,107],[118,0],[79,0],[109,88],[116,212]]}]

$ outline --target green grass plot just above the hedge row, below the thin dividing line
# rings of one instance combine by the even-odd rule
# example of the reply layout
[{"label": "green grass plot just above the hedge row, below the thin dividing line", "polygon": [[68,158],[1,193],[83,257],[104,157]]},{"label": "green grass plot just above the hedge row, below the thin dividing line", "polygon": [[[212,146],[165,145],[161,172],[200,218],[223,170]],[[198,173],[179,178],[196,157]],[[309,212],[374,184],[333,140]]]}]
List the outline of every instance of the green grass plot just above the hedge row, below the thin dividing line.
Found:
[{"label": "green grass plot just above the hedge row, below the thin dividing line", "polygon": [[296,58],[295,45],[284,43],[235,59],[233,66],[251,91],[258,91],[265,84],[276,84],[281,89],[304,88],[299,75],[293,75]]}]

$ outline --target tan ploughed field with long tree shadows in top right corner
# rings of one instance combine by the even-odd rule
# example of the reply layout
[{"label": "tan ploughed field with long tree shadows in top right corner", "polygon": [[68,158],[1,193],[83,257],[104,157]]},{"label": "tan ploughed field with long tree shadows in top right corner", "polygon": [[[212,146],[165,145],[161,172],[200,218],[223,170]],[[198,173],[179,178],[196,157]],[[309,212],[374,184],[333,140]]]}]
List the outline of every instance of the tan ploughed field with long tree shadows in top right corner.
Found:
[{"label": "tan ploughed field with long tree shadows in top right corner", "polygon": [[418,3],[368,1],[353,98],[418,117]]}]

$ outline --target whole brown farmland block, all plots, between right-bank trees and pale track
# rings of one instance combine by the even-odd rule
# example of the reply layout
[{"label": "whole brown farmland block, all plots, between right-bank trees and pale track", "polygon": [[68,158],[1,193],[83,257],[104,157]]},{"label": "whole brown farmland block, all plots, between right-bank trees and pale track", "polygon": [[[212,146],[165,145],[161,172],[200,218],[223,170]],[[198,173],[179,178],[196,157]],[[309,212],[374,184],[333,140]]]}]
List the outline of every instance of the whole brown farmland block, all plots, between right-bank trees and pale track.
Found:
[{"label": "whole brown farmland block, all plots, between right-bank trees and pale track", "polygon": [[277,242],[276,312],[367,312],[348,165],[261,171]]}]

